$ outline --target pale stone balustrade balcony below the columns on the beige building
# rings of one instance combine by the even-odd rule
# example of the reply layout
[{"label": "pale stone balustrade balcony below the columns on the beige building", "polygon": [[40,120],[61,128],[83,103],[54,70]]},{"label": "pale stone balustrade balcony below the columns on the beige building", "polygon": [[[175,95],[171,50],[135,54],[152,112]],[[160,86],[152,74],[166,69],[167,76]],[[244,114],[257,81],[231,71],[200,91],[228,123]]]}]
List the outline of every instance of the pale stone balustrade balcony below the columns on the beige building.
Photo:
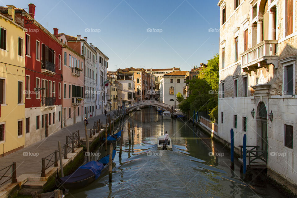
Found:
[{"label": "pale stone balustrade balcony below the columns on the beige building", "polygon": [[241,69],[249,74],[251,71],[256,74],[258,67],[265,67],[268,70],[268,65],[273,64],[274,68],[277,68],[278,55],[275,55],[277,44],[278,40],[263,40],[242,53]]}]

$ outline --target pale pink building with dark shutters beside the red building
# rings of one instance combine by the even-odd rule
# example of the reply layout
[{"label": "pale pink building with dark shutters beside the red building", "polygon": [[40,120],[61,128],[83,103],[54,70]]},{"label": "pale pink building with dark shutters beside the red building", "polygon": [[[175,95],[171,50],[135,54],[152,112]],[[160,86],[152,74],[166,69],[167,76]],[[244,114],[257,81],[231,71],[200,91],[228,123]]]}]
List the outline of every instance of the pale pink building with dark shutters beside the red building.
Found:
[{"label": "pale pink building with dark shutters beside the red building", "polygon": [[68,46],[64,33],[56,36],[64,45],[62,49],[62,127],[84,119],[84,56]]}]

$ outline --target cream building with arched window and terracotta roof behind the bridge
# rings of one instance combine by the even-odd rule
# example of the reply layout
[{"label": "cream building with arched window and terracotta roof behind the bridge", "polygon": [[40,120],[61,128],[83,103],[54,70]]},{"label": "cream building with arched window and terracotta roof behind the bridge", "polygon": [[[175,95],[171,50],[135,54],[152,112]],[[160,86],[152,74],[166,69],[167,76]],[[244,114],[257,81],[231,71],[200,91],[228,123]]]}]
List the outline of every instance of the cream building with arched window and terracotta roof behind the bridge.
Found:
[{"label": "cream building with arched window and terracotta roof behind the bridge", "polygon": [[[176,94],[183,94],[185,75],[187,71],[174,71],[164,74],[160,79],[160,101],[174,107],[177,107],[179,102],[176,101]],[[185,98],[186,95],[183,95]]]}]

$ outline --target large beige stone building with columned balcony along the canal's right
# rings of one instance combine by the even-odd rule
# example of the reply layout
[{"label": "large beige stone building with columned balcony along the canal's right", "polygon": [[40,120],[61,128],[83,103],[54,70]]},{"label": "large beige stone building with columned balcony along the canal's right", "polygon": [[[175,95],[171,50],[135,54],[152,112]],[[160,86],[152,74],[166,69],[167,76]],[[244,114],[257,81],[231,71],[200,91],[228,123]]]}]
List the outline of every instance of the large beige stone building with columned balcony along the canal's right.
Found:
[{"label": "large beige stone building with columned balcony along the canal's right", "polygon": [[[296,0],[220,0],[218,133],[258,146],[268,175],[297,187]],[[294,152],[295,151],[295,152]]]}]

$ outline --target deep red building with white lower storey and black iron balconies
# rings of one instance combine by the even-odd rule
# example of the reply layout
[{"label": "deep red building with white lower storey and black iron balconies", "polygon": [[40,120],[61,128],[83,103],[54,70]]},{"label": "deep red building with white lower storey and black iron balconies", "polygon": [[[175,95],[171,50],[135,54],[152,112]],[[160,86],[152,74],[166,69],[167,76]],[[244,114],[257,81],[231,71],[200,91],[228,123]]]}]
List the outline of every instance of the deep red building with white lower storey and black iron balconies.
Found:
[{"label": "deep red building with white lower storey and black iron balconies", "polygon": [[63,43],[35,20],[35,5],[16,13],[25,37],[25,146],[61,128]]}]

